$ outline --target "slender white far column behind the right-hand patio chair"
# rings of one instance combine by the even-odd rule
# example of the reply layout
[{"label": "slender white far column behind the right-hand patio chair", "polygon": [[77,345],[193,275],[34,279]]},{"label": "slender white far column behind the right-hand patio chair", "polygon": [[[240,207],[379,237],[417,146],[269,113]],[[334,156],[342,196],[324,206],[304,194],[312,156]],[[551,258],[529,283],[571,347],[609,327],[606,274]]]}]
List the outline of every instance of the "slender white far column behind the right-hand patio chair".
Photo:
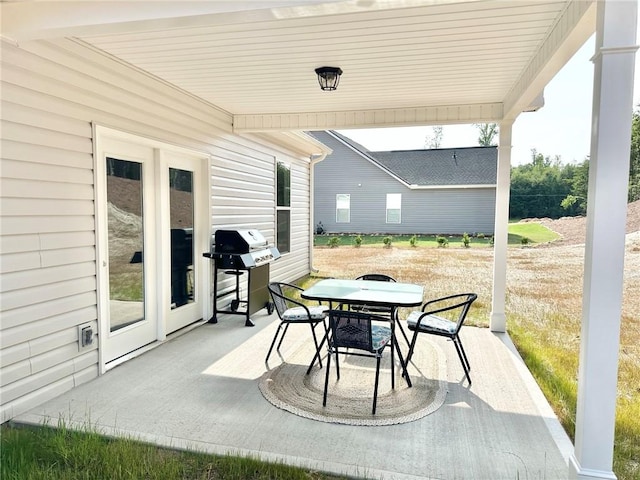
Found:
[{"label": "slender white far column behind the right-hand patio chair", "polygon": [[513,122],[502,122],[499,130],[496,218],[493,231],[493,293],[491,295],[490,321],[492,332],[505,332],[507,328],[504,307],[507,295],[507,242],[509,239],[512,127]]}]

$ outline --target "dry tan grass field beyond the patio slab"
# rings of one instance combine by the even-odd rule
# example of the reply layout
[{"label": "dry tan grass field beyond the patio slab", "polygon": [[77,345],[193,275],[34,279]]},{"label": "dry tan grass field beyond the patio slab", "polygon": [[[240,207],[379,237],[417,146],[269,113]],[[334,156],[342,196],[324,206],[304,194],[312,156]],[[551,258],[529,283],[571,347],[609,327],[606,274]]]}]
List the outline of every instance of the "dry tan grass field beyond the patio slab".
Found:
[{"label": "dry tan grass field beyond the patio slab", "polygon": [[[634,215],[640,214],[636,202]],[[637,215],[635,222],[640,221]],[[554,224],[555,222],[555,224]],[[542,221],[563,234],[551,245],[512,247],[508,254],[506,313],[514,343],[573,438],[582,315],[584,220]],[[565,230],[563,232],[562,230]],[[640,478],[640,226],[627,235],[624,306],[614,470],[620,479]],[[316,247],[319,277],[354,278],[385,273],[422,283],[427,298],[475,292],[470,325],[488,327],[491,310],[491,248]]]}]

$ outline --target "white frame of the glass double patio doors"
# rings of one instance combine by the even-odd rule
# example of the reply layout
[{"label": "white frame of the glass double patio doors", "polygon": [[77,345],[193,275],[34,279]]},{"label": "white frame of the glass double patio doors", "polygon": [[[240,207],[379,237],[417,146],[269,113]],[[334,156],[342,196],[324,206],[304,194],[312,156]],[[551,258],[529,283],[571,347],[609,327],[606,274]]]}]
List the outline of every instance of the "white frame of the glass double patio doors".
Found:
[{"label": "white frame of the glass double patio doors", "polygon": [[[209,282],[207,281],[211,275],[210,262],[198,255],[198,252],[209,251],[211,242],[211,216],[209,215],[209,156],[206,153],[198,152],[175,145],[170,145],[157,140],[148,139],[127,132],[122,132],[101,125],[93,126],[94,138],[94,185],[95,185],[95,229],[96,229],[96,266],[97,266],[97,307],[98,307],[98,356],[99,356],[99,373],[105,373],[107,370],[116,366],[123,361],[133,358],[148,348],[159,344],[167,337],[168,319],[171,315],[170,298],[171,298],[171,266],[170,266],[170,232],[169,232],[169,212],[168,212],[168,168],[174,165],[180,165],[184,159],[189,159],[194,167],[194,222],[200,225],[200,231],[194,232],[194,268],[198,272],[199,285],[195,296],[198,302],[195,308],[191,309],[192,314],[197,318],[209,318],[210,314],[210,295]],[[151,217],[151,222],[145,224],[145,229],[152,232],[155,241],[146,245],[145,240],[145,258],[153,258],[153,261],[145,262],[145,275],[148,279],[155,278],[156,281],[148,281],[145,288],[146,298],[146,318],[149,321],[147,325],[153,325],[153,342],[146,348],[135,349],[125,353],[117,360],[109,358],[109,340],[111,335],[109,323],[109,279],[108,279],[108,224],[107,224],[107,191],[106,191],[106,166],[105,154],[108,152],[106,148],[110,145],[122,145],[132,147],[134,153],[136,150],[140,152],[152,152],[150,159],[153,164],[151,170],[152,178],[145,178],[150,182],[149,185],[158,193],[149,192],[147,201],[153,202],[154,215],[146,215]],[[142,155],[142,154],[139,154]],[[115,155],[117,157],[117,155]],[[129,155],[133,159],[136,155]],[[125,158],[126,159],[126,156]],[[150,164],[151,164],[150,163]],[[184,163],[186,165],[186,163]],[[166,172],[164,172],[166,170]],[[198,173],[196,173],[198,172]],[[161,188],[161,183],[166,180],[166,189]],[[166,192],[163,192],[166,190]],[[166,195],[166,204],[163,197]],[[149,236],[149,235],[147,235]],[[146,290],[149,290],[147,293]],[[168,297],[167,297],[168,295]],[[185,309],[188,310],[188,309]],[[143,323],[143,322],[140,322]],[[126,328],[123,329],[126,331]],[[126,332],[123,332],[126,333]],[[120,334],[122,335],[122,333]],[[111,338],[111,339],[113,339]],[[124,338],[124,337],[123,337]]]}]

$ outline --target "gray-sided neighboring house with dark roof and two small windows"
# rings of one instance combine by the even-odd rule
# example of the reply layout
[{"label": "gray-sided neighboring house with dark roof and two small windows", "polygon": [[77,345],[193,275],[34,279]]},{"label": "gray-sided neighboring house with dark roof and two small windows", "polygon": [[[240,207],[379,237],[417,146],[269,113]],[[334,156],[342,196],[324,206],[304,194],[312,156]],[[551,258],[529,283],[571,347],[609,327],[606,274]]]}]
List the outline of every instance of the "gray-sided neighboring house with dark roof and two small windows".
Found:
[{"label": "gray-sided neighboring house with dark roof and two small windows", "polygon": [[314,168],[314,224],[328,233],[491,234],[497,147],[370,152],[334,131]]}]

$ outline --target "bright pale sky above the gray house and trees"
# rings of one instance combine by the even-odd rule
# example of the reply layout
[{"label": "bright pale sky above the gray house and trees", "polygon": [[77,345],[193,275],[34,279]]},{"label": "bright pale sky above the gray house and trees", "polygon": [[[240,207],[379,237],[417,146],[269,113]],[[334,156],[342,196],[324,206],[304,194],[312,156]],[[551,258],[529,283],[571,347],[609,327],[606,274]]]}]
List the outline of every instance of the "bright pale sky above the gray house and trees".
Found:
[{"label": "bright pale sky above the gray house and trees", "polygon": [[[640,38],[639,38],[640,40]],[[639,42],[640,43],[640,42]],[[545,157],[560,157],[563,163],[578,163],[589,155],[595,36],[576,52],[544,89],[545,105],[537,112],[522,113],[513,124],[511,164],[531,162],[531,150]],[[640,103],[640,54],[636,54],[634,108]],[[478,128],[473,125],[444,125],[441,148],[478,145]],[[433,128],[398,127],[340,130],[371,151],[425,148]],[[497,143],[496,136],[494,142]]]}]

